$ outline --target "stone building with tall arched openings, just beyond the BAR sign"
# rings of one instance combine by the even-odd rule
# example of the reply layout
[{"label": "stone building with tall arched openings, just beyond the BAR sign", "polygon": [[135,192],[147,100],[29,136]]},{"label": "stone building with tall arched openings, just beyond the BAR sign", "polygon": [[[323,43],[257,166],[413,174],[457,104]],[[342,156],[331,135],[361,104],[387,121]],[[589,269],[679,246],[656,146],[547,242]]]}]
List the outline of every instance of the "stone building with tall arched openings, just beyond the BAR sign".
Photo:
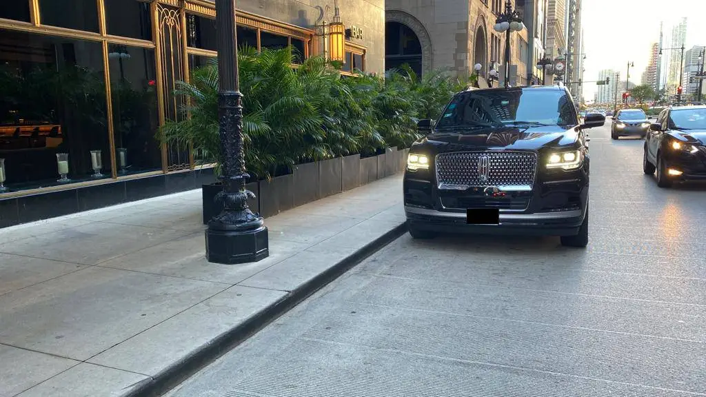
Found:
[{"label": "stone building with tall arched openings, just beyond the BAR sign", "polygon": [[[495,32],[493,25],[495,14],[504,8],[502,0],[386,0],[385,69],[409,64],[421,75],[441,69],[465,79],[474,73],[475,64],[481,64],[480,73],[487,76],[491,64],[503,64],[505,34]],[[526,29],[511,33],[510,59],[517,66],[517,85],[527,83],[522,58],[526,46]]]}]

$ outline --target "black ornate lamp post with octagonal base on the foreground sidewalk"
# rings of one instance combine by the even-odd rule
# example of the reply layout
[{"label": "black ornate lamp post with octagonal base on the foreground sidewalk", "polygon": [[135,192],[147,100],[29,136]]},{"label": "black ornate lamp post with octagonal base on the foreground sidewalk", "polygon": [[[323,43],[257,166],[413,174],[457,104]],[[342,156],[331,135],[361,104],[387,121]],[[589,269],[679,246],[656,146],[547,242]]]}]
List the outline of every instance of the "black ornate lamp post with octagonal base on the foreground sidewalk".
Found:
[{"label": "black ornate lamp post with octagonal base on the foreground sidewalk", "polygon": [[245,263],[269,256],[268,229],[263,218],[250,211],[245,189],[243,106],[239,90],[236,0],[216,0],[218,29],[218,134],[223,151],[223,191],[217,196],[224,207],[208,223],[206,259],[215,263]]}]

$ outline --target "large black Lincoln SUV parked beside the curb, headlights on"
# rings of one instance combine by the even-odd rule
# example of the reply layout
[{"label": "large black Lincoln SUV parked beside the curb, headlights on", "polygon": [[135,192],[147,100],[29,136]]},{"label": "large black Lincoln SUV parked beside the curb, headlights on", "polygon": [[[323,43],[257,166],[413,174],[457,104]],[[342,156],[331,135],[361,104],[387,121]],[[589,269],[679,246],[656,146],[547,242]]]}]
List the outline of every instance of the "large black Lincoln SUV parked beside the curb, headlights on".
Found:
[{"label": "large black Lincoln SUV parked beside the curb, headlights on", "polygon": [[589,155],[584,129],[605,117],[578,111],[563,87],[470,90],[440,119],[419,122],[403,182],[414,238],[437,232],[557,235],[588,242]]}]

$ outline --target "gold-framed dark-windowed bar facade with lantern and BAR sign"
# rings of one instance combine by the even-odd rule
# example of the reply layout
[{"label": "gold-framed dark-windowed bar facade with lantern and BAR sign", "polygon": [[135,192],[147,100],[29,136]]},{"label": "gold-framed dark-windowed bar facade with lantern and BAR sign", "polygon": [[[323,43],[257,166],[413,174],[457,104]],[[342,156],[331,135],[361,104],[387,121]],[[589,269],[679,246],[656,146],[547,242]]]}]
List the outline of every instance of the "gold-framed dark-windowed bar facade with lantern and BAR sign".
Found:
[{"label": "gold-framed dark-windowed bar facade with lantern and BAR sign", "polygon": [[[338,2],[343,73],[383,73],[384,0]],[[0,227],[201,186],[208,172],[195,169],[195,153],[157,134],[184,117],[177,82],[216,57],[213,1],[4,4],[0,158],[9,190],[0,192]],[[239,46],[292,46],[294,64],[327,54],[319,27],[333,20],[334,6],[238,1]]]}]

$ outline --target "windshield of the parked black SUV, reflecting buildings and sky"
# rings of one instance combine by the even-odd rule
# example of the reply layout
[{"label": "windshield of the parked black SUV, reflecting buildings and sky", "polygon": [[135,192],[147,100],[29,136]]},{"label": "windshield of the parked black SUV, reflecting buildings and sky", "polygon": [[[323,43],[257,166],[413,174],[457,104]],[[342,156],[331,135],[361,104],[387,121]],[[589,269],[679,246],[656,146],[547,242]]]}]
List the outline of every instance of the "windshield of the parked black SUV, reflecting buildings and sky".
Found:
[{"label": "windshield of the parked black SUV, reflecting buildings and sky", "polygon": [[436,128],[508,124],[569,126],[578,122],[564,90],[478,90],[455,95]]}]

